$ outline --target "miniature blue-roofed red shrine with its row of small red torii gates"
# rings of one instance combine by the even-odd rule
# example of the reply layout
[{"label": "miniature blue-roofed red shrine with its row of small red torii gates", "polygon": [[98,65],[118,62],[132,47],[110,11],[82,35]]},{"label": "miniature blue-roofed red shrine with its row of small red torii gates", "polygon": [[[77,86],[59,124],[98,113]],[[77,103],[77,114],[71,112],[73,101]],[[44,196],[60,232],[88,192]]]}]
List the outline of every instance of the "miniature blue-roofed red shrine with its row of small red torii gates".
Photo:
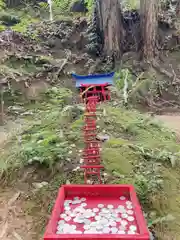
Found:
[{"label": "miniature blue-roofed red shrine with its row of small red torii gates", "polygon": [[86,104],[84,114],[85,126],[84,132],[84,180],[88,183],[88,176],[97,176],[99,183],[101,181],[100,144],[97,140],[96,127],[96,107],[98,102],[110,100],[110,90],[108,86],[113,84],[114,73],[79,76],[72,74],[76,81],[76,87],[79,89],[81,100]]}]

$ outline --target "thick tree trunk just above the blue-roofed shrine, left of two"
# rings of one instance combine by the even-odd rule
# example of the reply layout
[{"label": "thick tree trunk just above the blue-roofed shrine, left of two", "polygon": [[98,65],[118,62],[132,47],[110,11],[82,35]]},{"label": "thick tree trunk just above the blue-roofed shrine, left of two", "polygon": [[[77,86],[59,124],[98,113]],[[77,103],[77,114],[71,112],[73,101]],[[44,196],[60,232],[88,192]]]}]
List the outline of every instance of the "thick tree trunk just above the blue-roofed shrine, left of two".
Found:
[{"label": "thick tree trunk just above the blue-roofed shrine, left of two", "polygon": [[123,43],[122,14],[119,0],[97,0],[98,26],[103,38],[103,53],[121,58]]}]

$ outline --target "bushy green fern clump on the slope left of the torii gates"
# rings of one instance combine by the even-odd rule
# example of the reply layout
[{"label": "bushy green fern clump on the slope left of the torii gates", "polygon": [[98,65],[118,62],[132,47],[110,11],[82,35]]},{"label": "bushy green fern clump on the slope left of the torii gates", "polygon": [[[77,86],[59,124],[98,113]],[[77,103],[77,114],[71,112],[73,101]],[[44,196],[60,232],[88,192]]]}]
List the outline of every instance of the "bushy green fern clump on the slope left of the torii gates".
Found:
[{"label": "bushy green fern clump on the slope left of the torii gates", "polygon": [[69,152],[68,142],[58,132],[39,126],[37,133],[22,136],[20,155],[25,163],[39,162],[50,168],[56,161],[66,160]]}]

